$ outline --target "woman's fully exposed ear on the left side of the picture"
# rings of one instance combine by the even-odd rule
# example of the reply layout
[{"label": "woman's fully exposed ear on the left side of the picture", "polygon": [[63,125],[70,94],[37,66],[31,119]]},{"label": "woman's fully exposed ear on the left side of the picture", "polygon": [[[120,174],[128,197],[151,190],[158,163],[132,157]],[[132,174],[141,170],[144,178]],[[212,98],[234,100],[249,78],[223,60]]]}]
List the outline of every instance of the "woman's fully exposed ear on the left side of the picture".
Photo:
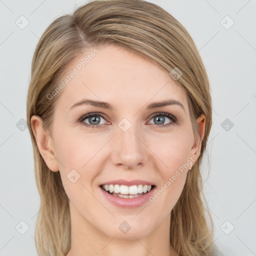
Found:
[{"label": "woman's fully exposed ear on the left side of the picture", "polygon": [[57,159],[54,152],[54,146],[48,131],[43,129],[43,121],[40,116],[33,115],[30,119],[33,134],[36,140],[38,150],[44,159],[48,168],[52,171],[58,171]]}]

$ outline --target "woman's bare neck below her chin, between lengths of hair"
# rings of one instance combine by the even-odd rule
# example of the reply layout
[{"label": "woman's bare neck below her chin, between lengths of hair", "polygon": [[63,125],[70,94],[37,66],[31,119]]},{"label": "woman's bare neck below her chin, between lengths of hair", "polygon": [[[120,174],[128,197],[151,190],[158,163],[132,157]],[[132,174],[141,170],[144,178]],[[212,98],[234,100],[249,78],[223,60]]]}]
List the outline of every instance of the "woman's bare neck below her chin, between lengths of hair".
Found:
[{"label": "woman's bare neck below her chin, between lengths of hair", "polygon": [[[131,239],[110,237],[84,219],[70,204],[71,249],[66,256],[175,256],[169,240],[170,214],[149,235]],[[106,220],[107,221],[107,220]]]}]

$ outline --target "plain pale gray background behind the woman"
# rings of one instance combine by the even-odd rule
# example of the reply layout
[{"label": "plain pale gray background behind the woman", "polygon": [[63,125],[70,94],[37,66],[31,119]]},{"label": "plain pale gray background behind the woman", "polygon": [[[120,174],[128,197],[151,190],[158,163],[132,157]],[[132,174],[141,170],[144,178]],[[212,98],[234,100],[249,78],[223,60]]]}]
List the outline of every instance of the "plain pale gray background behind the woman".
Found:
[{"label": "plain pale gray background behind the woman", "polygon": [[[36,255],[39,196],[29,132],[22,126],[31,59],[49,23],[82,2],[0,0],[1,256]],[[209,76],[213,125],[202,173],[215,242],[223,255],[256,255],[256,0],[151,2],[188,30]],[[29,22],[23,29],[21,15]]]}]

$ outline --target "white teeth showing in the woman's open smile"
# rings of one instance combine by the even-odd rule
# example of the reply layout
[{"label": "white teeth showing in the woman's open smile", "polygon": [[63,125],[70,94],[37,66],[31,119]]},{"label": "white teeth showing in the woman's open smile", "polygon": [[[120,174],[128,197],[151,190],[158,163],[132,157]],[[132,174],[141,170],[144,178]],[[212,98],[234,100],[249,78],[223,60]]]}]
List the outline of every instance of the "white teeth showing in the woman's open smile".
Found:
[{"label": "white teeth showing in the woman's open smile", "polygon": [[[124,198],[133,198],[139,196],[141,193],[146,193],[151,190],[151,185],[132,185],[132,186],[126,186],[126,185],[118,185],[118,184],[108,184],[108,185],[102,185],[102,188],[106,191],[109,191],[109,193],[119,193],[120,197]],[[115,194],[114,194],[115,195]]]}]

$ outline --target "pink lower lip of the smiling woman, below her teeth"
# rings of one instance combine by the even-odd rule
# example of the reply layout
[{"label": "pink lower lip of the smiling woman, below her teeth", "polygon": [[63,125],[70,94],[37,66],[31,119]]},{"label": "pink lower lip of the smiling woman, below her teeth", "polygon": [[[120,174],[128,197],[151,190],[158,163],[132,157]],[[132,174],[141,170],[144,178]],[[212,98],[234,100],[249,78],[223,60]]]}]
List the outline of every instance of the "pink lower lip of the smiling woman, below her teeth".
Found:
[{"label": "pink lower lip of the smiling woman, below her teeth", "polygon": [[134,198],[123,198],[123,197],[115,196],[115,195],[109,194],[101,187],[99,187],[99,189],[102,191],[106,199],[111,203],[113,203],[114,205],[118,207],[123,207],[123,208],[135,208],[143,205],[146,201],[149,201],[149,197],[154,193],[155,186],[149,192]]}]

